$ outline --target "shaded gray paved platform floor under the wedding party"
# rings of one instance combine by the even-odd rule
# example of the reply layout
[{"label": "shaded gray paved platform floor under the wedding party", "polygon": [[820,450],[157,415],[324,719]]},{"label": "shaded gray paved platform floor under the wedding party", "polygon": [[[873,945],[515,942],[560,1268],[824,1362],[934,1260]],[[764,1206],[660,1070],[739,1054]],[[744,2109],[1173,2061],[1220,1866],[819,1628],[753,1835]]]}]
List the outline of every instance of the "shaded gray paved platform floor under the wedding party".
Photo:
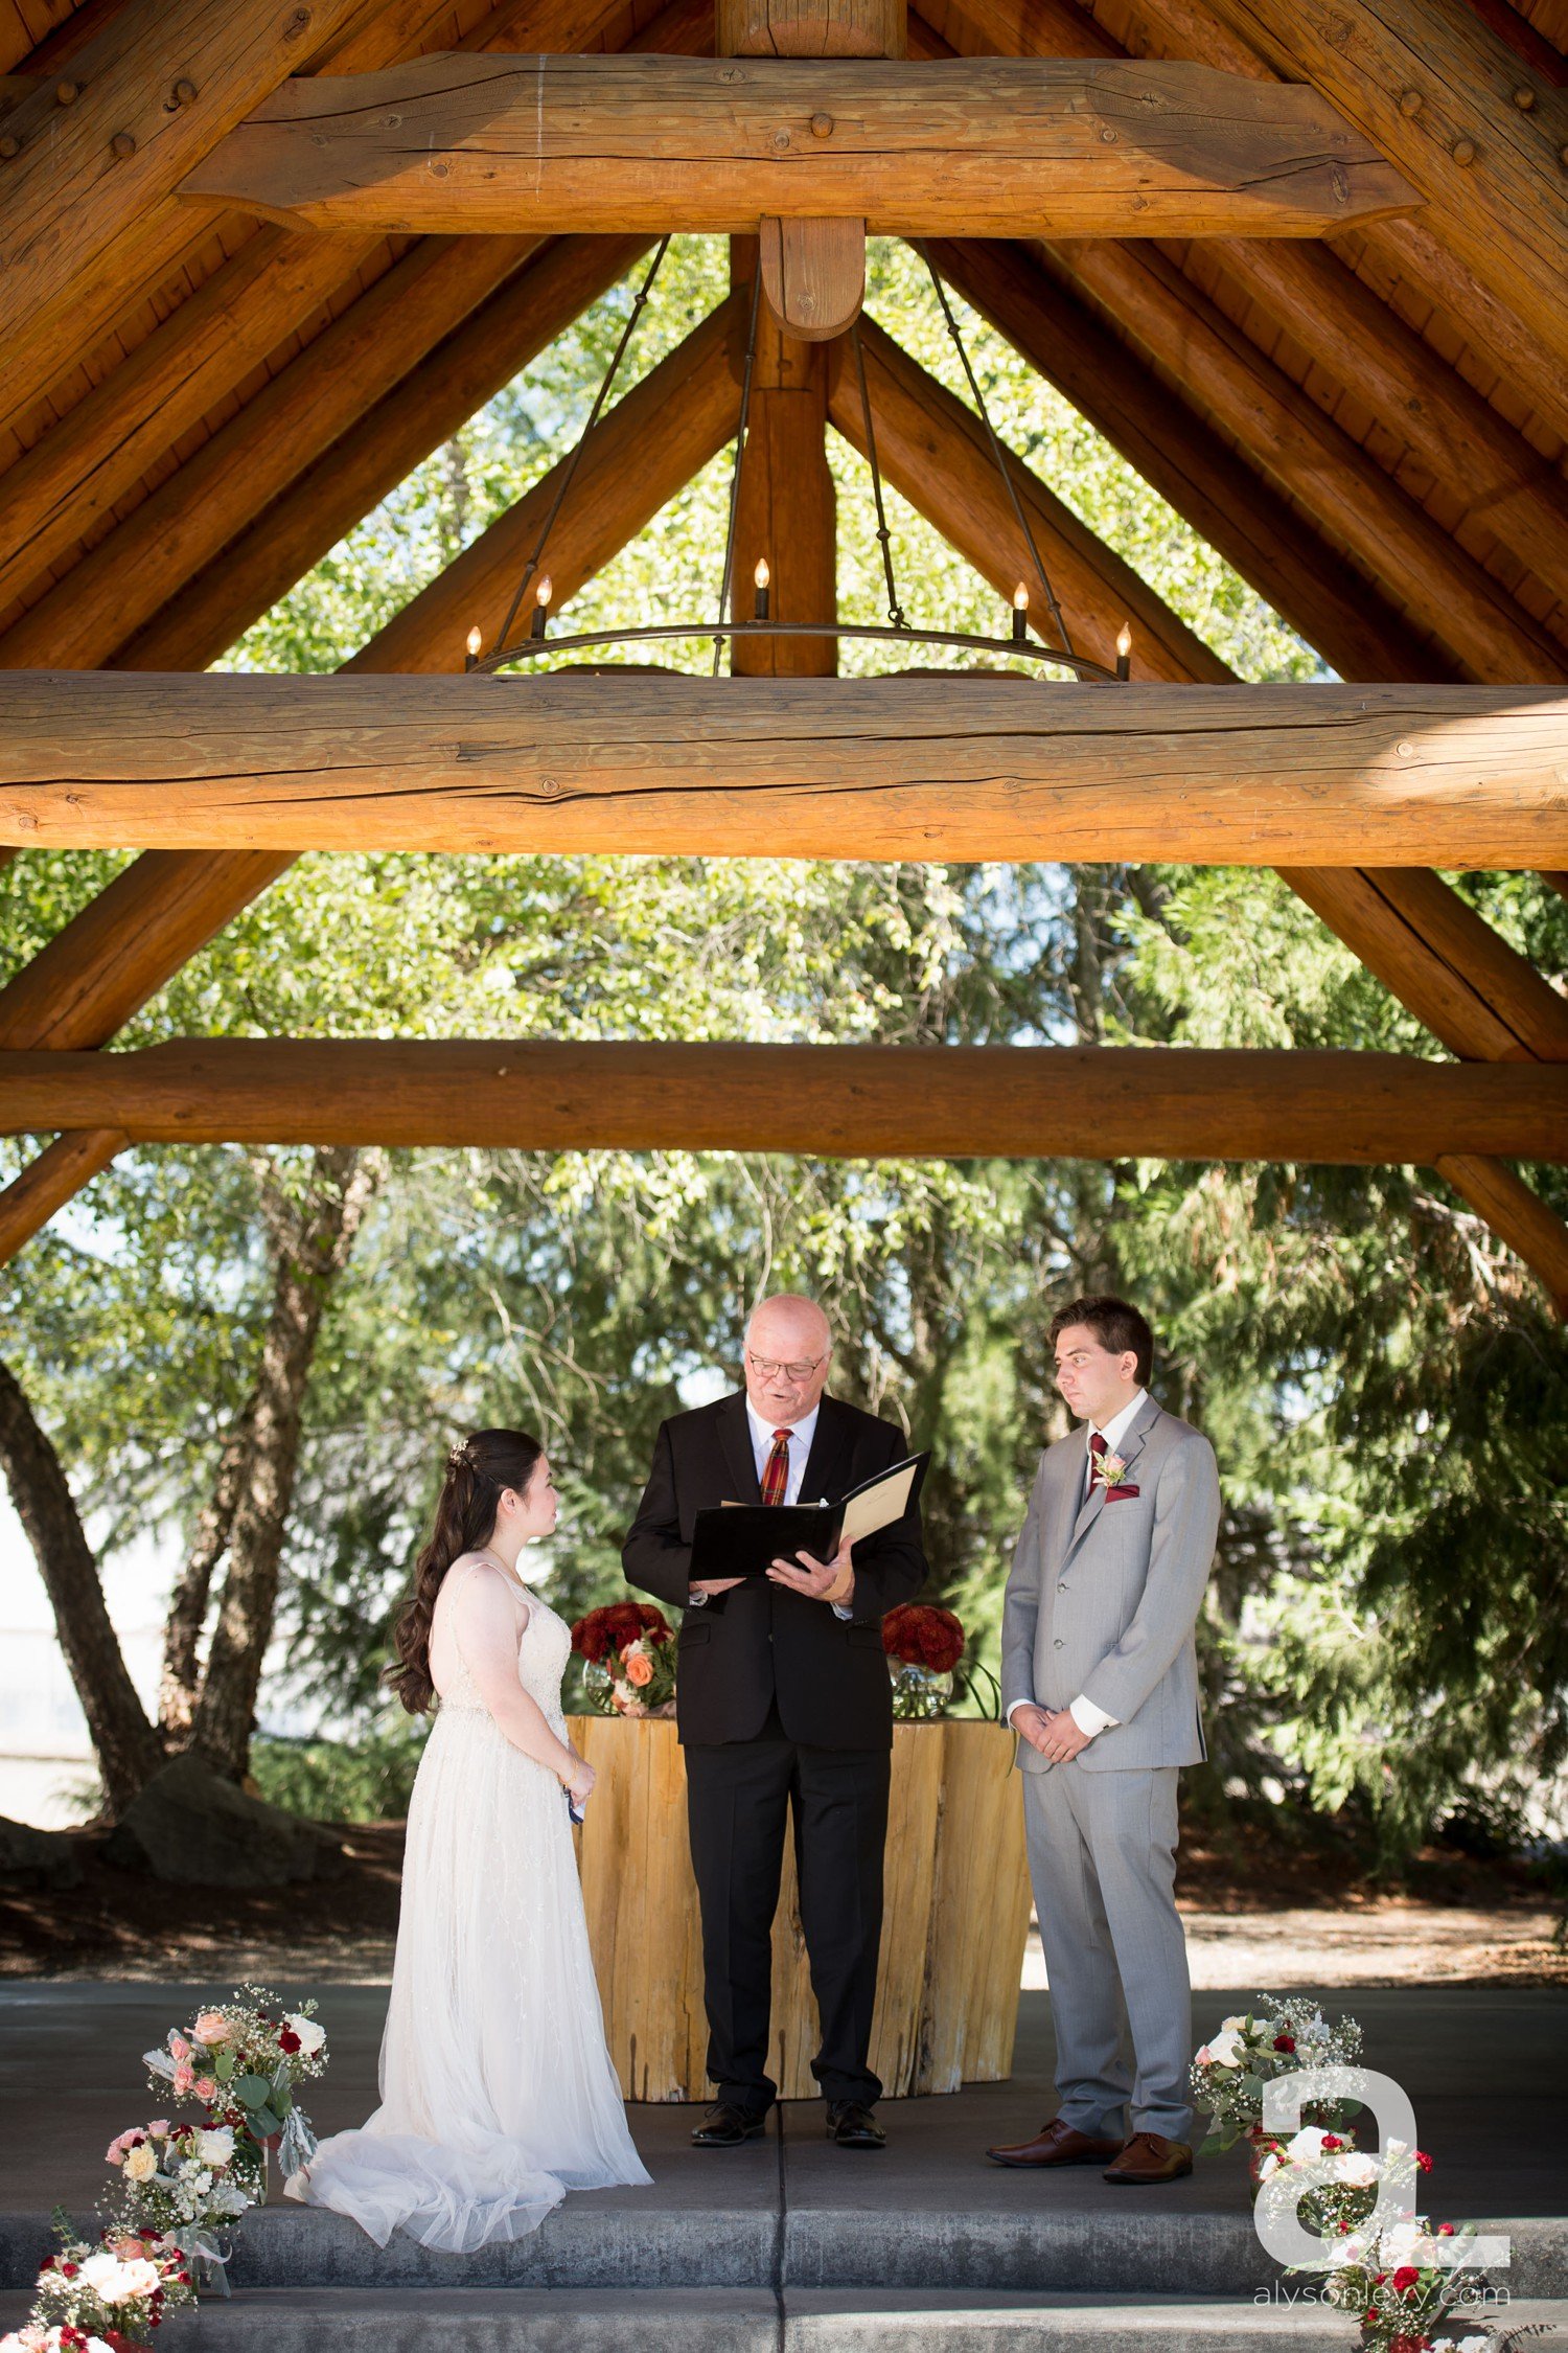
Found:
[{"label": "shaded gray paved platform floor under the wedding party", "polygon": [[[103,2148],[125,2125],[158,2113],[139,2054],[186,2019],[214,1986],[42,1984],[0,1986],[0,2214],[47,2212],[54,2200],[87,2207],[103,2184]],[[331,2038],[331,2066],[313,2087],[317,2132],[364,2120],[376,2101],[376,2049],[386,1993],[367,1986],[280,1988],[315,1993]],[[1211,2033],[1246,1993],[1199,1993],[1194,2026]],[[1568,1995],[1552,1986],[1326,1995],[1354,2009],[1366,2064],[1394,2075],[1410,2099],[1436,2172],[1434,2214],[1568,2214],[1561,2115],[1568,2101]],[[889,2151],[856,2155],[823,2139],[823,2111],[792,2101],[783,2137],[745,2151],[693,2151],[691,2108],[632,2108],[632,2132],[654,2186],[569,2200],[574,2209],[790,2207],[877,2212],[1126,2214],[1128,2198],[1098,2172],[1041,2181],[987,2165],[987,2141],[1016,2139],[1053,2108],[1051,2005],[1023,1993],[1016,2073],[947,2099],[884,2104]],[[1152,2195],[1152,2193],[1145,2193]],[[1201,2160],[1190,2181],[1159,2191],[1161,2212],[1248,2212],[1239,2160]]]}]

